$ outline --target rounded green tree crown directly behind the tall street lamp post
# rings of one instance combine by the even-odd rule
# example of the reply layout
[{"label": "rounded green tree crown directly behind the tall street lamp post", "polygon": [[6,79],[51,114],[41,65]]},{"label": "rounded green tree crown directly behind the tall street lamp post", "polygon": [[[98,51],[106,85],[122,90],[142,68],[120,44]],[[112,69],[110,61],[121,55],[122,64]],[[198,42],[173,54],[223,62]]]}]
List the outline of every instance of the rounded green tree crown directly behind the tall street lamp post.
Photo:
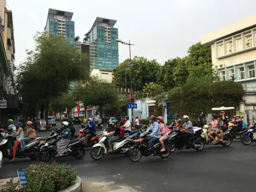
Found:
[{"label": "rounded green tree crown directly behind the tall street lamp post", "polygon": [[[130,62],[126,59],[113,69],[112,82],[118,86],[125,88],[125,65],[126,65],[126,80],[127,88],[130,88]],[[148,82],[156,82],[156,73],[160,65],[156,60],[147,60],[144,57],[135,56],[132,59],[132,89],[133,91],[142,91],[143,86]]]}]

